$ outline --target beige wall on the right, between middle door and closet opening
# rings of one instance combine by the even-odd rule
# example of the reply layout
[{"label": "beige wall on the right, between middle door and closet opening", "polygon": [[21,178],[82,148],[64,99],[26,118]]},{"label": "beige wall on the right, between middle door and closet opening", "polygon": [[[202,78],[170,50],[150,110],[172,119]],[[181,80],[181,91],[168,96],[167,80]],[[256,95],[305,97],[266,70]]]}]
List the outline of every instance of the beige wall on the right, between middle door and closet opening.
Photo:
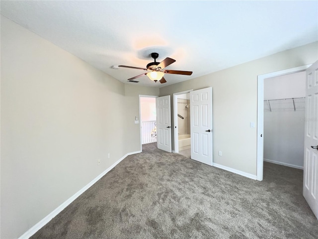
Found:
[{"label": "beige wall on the right, between middle door and closet opening", "polygon": [[[213,160],[217,164],[256,175],[256,127],[250,128],[249,123],[257,122],[257,76],[312,64],[317,59],[318,42],[314,42],[162,87],[160,96],[171,95],[173,99],[173,93],[212,87]],[[218,156],[219,150],[223,156]]]}]

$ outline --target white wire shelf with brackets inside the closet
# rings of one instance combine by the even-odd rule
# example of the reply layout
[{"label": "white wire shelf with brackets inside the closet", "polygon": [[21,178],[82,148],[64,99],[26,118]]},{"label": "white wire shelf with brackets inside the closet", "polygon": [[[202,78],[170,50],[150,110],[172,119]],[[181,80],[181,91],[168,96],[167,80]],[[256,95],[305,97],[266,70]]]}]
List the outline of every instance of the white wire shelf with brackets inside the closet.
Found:
[{"label": "white wire shelf with brackets inside the closet", "polygon": [[305,110],[306,97],[264,100],[264,111]]}]

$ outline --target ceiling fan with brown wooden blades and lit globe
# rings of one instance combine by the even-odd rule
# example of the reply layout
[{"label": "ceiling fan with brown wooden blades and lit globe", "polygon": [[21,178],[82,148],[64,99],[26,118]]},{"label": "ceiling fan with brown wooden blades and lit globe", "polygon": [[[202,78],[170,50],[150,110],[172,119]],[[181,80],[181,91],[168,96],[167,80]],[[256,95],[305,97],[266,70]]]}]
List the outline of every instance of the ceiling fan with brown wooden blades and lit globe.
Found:
[{"label": "ceiling fan with brown wooden blades and lit globe", "polygon": [[163,61],[157,62],[156,59],[159,57],[159,54],[156,52],[151,53],[151,57],[154,58],[155,61],[149,63],[146,68],[133,67],[133,66],[123,66],[123,65],[120,65],[119,67],[126,67],[126,68],[149,71],[148,73],[143,73],[141,75],[138,75],[138,76],[135,76],[133,78],[128,79],[129,82],[134,82],[134,83],[139,82],[139,81],[135,81],[136,78],[142,77],[144,75],[147,75],[150,80],[152,80],[154,82],[159,81],[162,84],[162,83],[166,83],[166,80],[163,78],[164,73],[187,75],[187,76],[190,76],[192,74],[192,71],[163,70],[165,67],[167,67],[167,66],[171,65],[173,62],[175,62],[175,60],[167,57]]}]

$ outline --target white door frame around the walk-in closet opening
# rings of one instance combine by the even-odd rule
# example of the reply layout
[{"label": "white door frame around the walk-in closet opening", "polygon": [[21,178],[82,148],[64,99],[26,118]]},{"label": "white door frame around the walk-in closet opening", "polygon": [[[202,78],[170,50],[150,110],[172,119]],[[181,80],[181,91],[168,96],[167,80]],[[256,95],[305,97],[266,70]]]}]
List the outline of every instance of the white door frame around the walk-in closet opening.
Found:
[{"label": "white door frame around the walk-in closet opening", "polygon": [[264,159],[264,79],[297,72],[306,71],[311,65],[305,65],[286,69],[283,71],[276,71],[264,75],[257,76],[257,162],[256,162],[256,179],[263,180],[263,159]]}]

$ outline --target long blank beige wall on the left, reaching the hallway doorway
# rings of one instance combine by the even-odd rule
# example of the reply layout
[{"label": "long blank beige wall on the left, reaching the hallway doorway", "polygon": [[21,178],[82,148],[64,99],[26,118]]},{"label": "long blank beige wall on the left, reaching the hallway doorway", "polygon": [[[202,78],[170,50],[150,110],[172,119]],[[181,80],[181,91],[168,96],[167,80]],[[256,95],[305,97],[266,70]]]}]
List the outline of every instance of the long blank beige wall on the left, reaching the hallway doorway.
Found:
[{"label": "long blank beige wall on the left, reaching the hallway doorway", "polygon": [[159,89],[125,85],[1,16],[0,238],[140,150],[139,94]]}]

